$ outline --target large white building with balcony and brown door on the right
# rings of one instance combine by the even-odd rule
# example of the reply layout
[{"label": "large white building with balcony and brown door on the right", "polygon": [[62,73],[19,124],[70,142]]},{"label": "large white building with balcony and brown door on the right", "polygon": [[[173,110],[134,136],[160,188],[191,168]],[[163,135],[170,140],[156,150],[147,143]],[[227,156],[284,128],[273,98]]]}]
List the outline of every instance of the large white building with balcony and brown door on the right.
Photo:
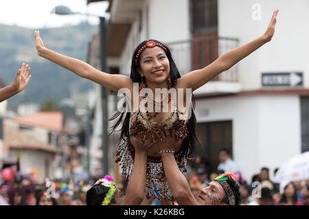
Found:
[{"label": "large white building with balcony and brown door on the right", "polygon": [[273,40],[194,92],[198,151],[218,166],[230,149],[251,182],[309,150],[309,2],[306,0],[113,0],[107,66],[130,73],[133,51],[167,43],[181,75],[264,34],[279,8]]}]

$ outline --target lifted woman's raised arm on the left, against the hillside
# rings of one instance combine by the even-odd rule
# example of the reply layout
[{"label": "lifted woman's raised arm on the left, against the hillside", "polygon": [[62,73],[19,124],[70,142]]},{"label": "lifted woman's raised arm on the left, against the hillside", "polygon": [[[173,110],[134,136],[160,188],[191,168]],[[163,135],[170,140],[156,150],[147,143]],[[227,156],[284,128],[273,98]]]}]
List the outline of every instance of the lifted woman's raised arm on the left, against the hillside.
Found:
[{"label": "lifted woman's raised arm on the left, against the hillside", "polygon": [[36,38],[36,51],[38,55],[44,57],[45,59],[54,62],[63,68],[71,70],[76,75],[89,79],[95,83],[117,92],[120,88],[132,88],[133,83],[130,78],[124,75],[111,75],[104,73],[98,69],[93,68],[86,62],[82,62],[73,57],[68,57],[66,55],[61,55],[44,46],[43,40],[40,36],[39,31],[34,31],[34,36]]}]

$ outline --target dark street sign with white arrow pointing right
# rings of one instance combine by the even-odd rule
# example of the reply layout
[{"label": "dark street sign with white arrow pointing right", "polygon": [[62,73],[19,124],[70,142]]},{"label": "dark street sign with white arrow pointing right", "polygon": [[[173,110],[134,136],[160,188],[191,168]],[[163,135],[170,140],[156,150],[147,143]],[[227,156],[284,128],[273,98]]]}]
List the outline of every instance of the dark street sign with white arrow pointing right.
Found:
[{"label": "dark street sign with white arrow pointing right", "polygon": [[303,73],[262,73],[262,86],[303,86]]}]

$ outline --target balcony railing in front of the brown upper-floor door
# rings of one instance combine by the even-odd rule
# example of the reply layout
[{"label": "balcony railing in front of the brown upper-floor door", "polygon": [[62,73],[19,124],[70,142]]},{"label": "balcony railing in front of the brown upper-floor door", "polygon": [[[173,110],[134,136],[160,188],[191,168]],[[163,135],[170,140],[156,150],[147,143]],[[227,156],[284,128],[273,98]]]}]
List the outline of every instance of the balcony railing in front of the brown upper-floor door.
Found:
[{"label": "balcony railing in front of the brown upper-floor door", "polygon": [[[168,43],[172,57],[181,75],[204,68],[220,55],[238,47],[238,39],[209,36]],[[238,81],[238,64],[229,68],[214,81]]]}]

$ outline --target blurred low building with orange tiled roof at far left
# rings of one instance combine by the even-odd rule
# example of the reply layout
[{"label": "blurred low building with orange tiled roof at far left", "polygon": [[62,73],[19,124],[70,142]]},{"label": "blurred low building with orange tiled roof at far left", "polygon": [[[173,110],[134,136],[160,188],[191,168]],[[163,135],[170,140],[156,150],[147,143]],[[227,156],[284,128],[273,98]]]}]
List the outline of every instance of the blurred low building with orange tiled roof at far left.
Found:
[{"label": "blurred low building with orange tiled roof at far left", "polygon": [[58,136],[62,131],[61,112],[38,112],[3,119],[3,159],[20,159],[21,172],[34,168],[41,180],[54,179],[55,156],[61,153]]}]

